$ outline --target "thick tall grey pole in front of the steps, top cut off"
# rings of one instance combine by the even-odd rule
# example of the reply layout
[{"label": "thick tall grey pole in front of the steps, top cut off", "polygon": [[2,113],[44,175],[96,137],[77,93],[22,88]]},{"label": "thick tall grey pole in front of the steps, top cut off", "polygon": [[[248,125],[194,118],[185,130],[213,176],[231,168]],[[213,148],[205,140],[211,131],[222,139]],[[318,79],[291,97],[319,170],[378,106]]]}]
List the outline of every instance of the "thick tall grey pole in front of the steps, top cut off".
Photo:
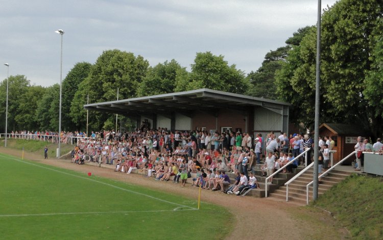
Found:
[{"label": "thick tall grey pole in front of the steps, top cut off", "polygon": [[317,21],[317,66],[316,66],[316,84],[315,84],[315,123],[314,123],[314,184],[313,184],[313,200],[318,199],[318,163],[319,163],[319,84],[321,73],[321,13],[322,1],[318,0],[318,21]]}]

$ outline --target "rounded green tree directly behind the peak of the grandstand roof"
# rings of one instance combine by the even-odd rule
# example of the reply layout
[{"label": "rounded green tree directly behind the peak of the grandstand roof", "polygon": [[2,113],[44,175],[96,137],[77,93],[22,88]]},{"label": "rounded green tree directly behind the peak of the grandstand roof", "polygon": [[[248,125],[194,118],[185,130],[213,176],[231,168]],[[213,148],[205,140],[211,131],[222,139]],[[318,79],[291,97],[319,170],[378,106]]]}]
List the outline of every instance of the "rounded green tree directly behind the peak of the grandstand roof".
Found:
[{"label": "rounded green tree directly behind the peak of the grandstand roof", "polygon": [[222,55],[215,56],[210,51],[198,52],[191,66],[189,74],[181,70],[176,91],[209,88],[244,94],[249,86],[244,72],[237,70],[234,64],[229,66]]}]

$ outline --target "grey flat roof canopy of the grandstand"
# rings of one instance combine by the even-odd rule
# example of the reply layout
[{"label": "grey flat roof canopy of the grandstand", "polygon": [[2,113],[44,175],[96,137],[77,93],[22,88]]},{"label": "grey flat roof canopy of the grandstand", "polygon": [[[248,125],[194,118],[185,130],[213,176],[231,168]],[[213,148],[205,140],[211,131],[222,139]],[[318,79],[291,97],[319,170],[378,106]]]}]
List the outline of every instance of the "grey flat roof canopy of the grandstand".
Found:
[{"label": "grey flat roof canopy of the grandstand", "polygon": [[261,106],[283,114],[283,106],[290,103],[228,93],[211,89],[198,89],[185,92],[167,93],[146,97],[136,97],[116,101],[85,104],[86,110],[122,114],[133,118],[150,114],[169,115],[177,112],[189,116],[199,110],[217,115],[219,109],[246,111],[249,106]]}]

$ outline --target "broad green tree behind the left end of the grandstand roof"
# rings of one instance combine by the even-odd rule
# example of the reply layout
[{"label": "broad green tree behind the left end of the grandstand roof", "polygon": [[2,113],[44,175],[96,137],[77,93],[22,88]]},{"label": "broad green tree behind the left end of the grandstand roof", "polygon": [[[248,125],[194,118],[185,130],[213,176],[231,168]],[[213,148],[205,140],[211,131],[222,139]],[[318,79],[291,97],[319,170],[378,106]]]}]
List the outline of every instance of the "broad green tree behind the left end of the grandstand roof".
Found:
[{"label": "broad green tree behind the left end of the grandstand roof", "polygon": [[[75,94],[71,103],[70,116],[73,122],[80,124],[80,118],[85,119],[83,104],[89,94],[89,102],[111,101],[117,99],[117,88],[119,99],[137,96],[137,89],[146,76],[149,62],[141,56],[135,57],[131,52],[118,49],[105,50],[91,66],[88,77],[80,84],[79,91]],[[83,104],[81,104],[83,103]],[[101,129],[108,119],[107,114],[95,115],[89,112],[90,126],[92,129]],[[86,115],[85,115],[86,116]],[[83,121],[82,121],[83,122]],[[78,127],[83,124],[77,125]]]}]

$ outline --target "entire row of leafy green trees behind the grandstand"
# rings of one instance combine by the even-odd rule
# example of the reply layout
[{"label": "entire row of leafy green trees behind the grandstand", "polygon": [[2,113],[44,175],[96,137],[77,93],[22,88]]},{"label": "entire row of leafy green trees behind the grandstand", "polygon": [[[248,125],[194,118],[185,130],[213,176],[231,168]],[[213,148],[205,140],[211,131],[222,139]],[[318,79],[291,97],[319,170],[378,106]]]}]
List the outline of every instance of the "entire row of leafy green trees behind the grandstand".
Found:
[{"label": "entire row of leafy green trees behind the grandstand", "polygon": [[[382,134],[383,4],[341,0],[324,9],[321,26],[322,122],[358,124]],[[62,82],[62,129],[84,130],[83,105],[131,97],[209,88],[292,103],[290,121],[313,129],[316,26],[293,33],[269,51],[262,65],[245,74],[224,56],[198,52],[190,71],[176,60],[155,66],[142,56],[105,50],[94,64],[80,62]],[[6,79],[0,84],[0,117],[5,118]],[[58,129],[59,85],[34,86],[26,76],[9,77],[10,130]],[[129,118],[120,119],[126,127]],[[5,122],[0,121],[4,132]],[[114,128],[111,114],[89,112],[89,129]]]}]

